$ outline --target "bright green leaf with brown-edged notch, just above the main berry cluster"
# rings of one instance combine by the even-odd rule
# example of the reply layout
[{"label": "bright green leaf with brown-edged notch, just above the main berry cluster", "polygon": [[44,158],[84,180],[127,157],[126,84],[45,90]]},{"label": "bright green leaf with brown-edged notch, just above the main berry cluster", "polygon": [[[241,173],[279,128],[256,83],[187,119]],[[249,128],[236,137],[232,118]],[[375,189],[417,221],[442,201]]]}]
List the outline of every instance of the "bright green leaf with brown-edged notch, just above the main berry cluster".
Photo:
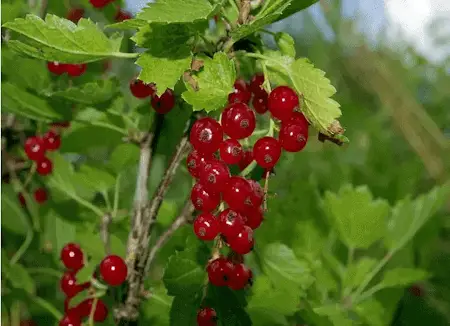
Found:
[{"label": "bright green leaf with brown-edged notch, just above the main berry cluster", "polygon": [[205,109],[211,112],[223,108],[228,100],[228,94],[233,91],[236,79],[234,61],[228,59],[223,52],[217,52],[214,58],[202,58],[203,70],[193,78],[198,83],[198,91],[190,85],[182,94],[183,99],[193,106],[194,111]]}]

